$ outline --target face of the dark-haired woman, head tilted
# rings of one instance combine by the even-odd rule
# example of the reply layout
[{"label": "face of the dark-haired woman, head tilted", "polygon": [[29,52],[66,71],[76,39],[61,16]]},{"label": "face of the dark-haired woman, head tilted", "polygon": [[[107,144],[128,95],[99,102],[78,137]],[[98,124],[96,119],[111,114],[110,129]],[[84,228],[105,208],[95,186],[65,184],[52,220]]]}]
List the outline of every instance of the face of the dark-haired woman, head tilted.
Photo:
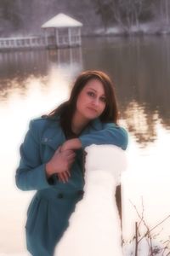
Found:
[{"label": "face of the dark-haired woman, head tilted", "polygon": [[91,79],[77,97],[76,112],[84,119],[95,119],[104,112],[106,105],[105,90],[98,79]]}]

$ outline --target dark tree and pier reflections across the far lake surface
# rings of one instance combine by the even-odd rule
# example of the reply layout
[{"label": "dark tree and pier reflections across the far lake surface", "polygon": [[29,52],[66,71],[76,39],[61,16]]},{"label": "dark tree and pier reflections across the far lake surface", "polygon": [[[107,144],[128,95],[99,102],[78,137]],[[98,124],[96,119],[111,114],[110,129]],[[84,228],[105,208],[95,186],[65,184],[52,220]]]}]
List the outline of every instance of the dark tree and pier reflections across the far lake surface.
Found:
[{"label": "dark tree and pier reflections across the far lake surface", "polygon": [[86,38],[82,48],[1,53],[0,100],[37,88],[47,92],[52,80],[61,84],[61,73],[71,84],[82,69],[102,69],[116,83],[127,130],[145,147],[156,140],[156,120],[170,129],[169,46],[169,37]]}]

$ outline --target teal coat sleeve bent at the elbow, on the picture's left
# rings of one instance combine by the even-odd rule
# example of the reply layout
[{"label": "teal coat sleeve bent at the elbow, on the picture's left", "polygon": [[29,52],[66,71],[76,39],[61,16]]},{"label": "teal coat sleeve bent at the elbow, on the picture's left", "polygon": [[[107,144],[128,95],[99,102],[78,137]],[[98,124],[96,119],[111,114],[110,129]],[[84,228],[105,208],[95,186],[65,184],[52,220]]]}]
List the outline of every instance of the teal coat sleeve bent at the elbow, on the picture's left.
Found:
[{"label": "teal coat sleeve bent at the elbow, on the picture's left", "polygon": [[24,142],[20,146],[20,165],[15,182],[19,189],[46,189],[50,186],[45,172],[45,164],[40,157],[38,131],[34,121],[30,122]]}]

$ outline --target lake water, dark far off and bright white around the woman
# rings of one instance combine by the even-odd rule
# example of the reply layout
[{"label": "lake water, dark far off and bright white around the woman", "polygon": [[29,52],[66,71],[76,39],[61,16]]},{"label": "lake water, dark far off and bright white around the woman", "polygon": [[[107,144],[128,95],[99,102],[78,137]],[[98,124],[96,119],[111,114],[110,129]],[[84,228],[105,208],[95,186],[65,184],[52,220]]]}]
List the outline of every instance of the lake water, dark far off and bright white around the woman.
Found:
[{"label": "lake water, dark far off and bright white around the woman", "polygon": [[[170,38],[82,38],[75,49],[0,53],[0,255],[26,251],[26,208],[33,192],[14,184],[29,120],[67,99],[78,73],[101,69],[116,84],[120,124],[129,132],[122,175],[123,237],[144,208],[152,228],[170,214]],[[144,207],[142,207],[142,201]],[[153,234],[170,238],[170,218]],[[3,254],[2,254],[3,255]]]}]

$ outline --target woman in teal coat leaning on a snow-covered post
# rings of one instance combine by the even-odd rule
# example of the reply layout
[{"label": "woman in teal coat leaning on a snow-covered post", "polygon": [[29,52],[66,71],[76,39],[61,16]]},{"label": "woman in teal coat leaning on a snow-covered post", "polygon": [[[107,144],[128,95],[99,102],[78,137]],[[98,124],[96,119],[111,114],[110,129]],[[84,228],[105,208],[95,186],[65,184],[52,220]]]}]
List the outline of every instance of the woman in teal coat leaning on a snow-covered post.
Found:
[{"label": "woman in teal coat leaning on a snow-covered post", "polygon": [[53,255],[82,198],[83,148],[93,143],[127,148],[127,132],[116,122],[114,86],[100,71],[81,73],[67,102],[31,120],[20,147],[16,184],[37,190],[26,222],[27,249],[33,256]]}]

